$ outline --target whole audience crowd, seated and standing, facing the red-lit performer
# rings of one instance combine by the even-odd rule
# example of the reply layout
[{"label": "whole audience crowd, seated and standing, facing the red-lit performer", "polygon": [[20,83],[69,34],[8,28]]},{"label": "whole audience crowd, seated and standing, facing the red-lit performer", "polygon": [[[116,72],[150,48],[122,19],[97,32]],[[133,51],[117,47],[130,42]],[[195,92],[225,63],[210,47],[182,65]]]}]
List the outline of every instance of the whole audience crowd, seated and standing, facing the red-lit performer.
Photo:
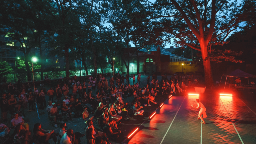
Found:
[{"label": "whole audience crowd, seated and standing, facing the red-lit performer", "polygon": [[[143,107],[155,105],[155,98],[163,94],[183,93],[186,85],[191,85],[193,75],[173,75],[169,80],[166,74],[162,74],[161,81],[157,80],[155,74],[147,77],[147,84],[143,84],[141,74],[121,75],[117,73],[109,80],[98,74],[95,78],[81,80],[77,76],[69,80],[60,81],[47,91],[42,89],[32,89],[27,85],[20,84],[20,89],[16,90],[14,85],[8,85],[8,92],[2,94],[1,113],[2,121],[6,120],[7,113],[12,115],[11,127],[15,129],[13,143],[30,143],[33,139],[47,142],[49,139],[61,144],[78,144],[82,134],[73,133],[72,129],[66,130],[66,124],[73,121],[72,117],[82,117],[86,127],[86,137],[90,144],[109,143],[109,138],[118,138],[122,133],[118,127],[123,120],[129,121],[132,116],[143,116]],[[137,77],[137,83],[136,83]],[[130,84],[129,78],[133,79]],[[197,82],[194,80],[193,82]],[[144,86],[142,86],[144,85]],[[95,93],[95,95],[94,95]],[[49,96],[46,106],[45,95]],[[125,97],[134,97],[132,105],[125,101]],[[34,125],[34,136],[31,137],[29,124],[22,118],[21,108],[34,110],[35,102],[40,109],[46,109],[49,120],[58,127],[60,124],[62,133],[57,135],[54,130],[43,130],[41,124]],[[60,108],[58,108],[60,107]],[[102,132],[97,131],[93,126],[96,121]],[[0,124],[0,130],[4,129],[0,136],[9,134],[9,127]]]}]

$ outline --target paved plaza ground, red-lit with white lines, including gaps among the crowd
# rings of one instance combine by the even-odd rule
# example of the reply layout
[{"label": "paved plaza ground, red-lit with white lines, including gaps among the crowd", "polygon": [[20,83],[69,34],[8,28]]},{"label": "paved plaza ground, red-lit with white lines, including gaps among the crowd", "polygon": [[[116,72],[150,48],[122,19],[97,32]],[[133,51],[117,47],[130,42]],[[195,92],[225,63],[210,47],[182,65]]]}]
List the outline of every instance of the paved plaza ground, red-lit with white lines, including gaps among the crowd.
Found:
[{"label": "paved plaza ground, red-lit with white lines, including gaps among the crowd", "polygon": [[[140,87],[146,86],[146,77],[148,76],[142,76]],[[170,76],[168,76],[169,78]],[[158,76],[158,80],[161,80],[161,76]],[[130,83],[132,84],[132,79],[130,79]],[[49,86],[46,86],[46,90],[48,89]],[[194,89],[188,89],[188,91],[194,92]],[[119,126],[123,135],[116,140],[110,140],[110,142],[112,144],[256,143],[256,98],[249,91],[244,90],[240,94],[234,92],[233,97],[220,97],[218,90],[206,90],[205,94],[200,96],[174,94],[170,99],[169,96],[158,95],[156,97],[158,104],[144,107],[143,117],[134,116],[131,121],[123,121]],[[199,110],[191,107],[192,104],[196,106],[195,99],[197,98],[207,109],[206,124],[201,124],[201,120],[197,120]],[[48,99],[49,97],[46,95],[46,101]],[[133,99],[133,96],[125,97],[126,102],[131,102]],[[162,103],[164,105],[159,108]],[[158,109],[156,110],[156,108]],[[155,110],[156,115],[152,119],[148,119]],[[46,108],[38,109],[40,120],[38,120],[36,111],[28,112],[25,109],[24,112],[24,120],[29,120],[31,131],[34,124],[39,122],[43,129],[53,129],[56,133],[59,132],[60,128],[50,124]],[[73,119],[71,122],[66,122],[67,128],[85,134],[85,124],[82,118]],[[9,122],[5,123],[10,125]],[[130,139],[127,139],[127,136],[137,127],[139,130]],[[54,142],[50,140],[49,143],[53,144]],[[81,138],[81,143],[87,143],[85,136]]]}]

